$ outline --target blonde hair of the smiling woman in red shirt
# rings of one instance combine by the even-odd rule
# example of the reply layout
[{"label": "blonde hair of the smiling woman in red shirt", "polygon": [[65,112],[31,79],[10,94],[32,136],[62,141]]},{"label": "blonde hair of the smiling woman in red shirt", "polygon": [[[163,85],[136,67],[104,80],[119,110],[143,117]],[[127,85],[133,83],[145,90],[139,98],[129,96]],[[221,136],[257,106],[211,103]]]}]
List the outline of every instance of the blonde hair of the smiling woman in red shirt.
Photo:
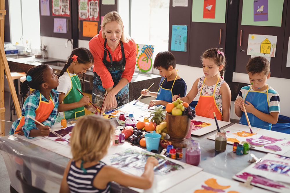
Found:
[{"label": "blonde hair of the smiling woman in red shirt", "polygon": [[124,43],[127,43],[127,42],[129,41],[130,37],[124,35],[124,26],[123,26],[123,21],[122,21],[121,16],[120,16],[120,15],[118,14],[118,12],[116,12],[116,11],[109,12],[109,13],[107,13],[107,14],[104,16],[104,19],[103,19],[103,21],[102,21],[102,29],[103,29],[103,30],[102,30],[102,37],[103,37],[104,39],[106,39],[106,35],[105,35],[105,32],[104,32],[104,29],[105,29],[104,27],[105,27],[105,25],[106,25],[107,23],[109,23],[109,22],[111,22],[111,21],[117,21],[117,22],[121,25],[123,32],[122,32],[122,36],[121,36],[120,41],[122,41],[122,42],[124,42]]}]

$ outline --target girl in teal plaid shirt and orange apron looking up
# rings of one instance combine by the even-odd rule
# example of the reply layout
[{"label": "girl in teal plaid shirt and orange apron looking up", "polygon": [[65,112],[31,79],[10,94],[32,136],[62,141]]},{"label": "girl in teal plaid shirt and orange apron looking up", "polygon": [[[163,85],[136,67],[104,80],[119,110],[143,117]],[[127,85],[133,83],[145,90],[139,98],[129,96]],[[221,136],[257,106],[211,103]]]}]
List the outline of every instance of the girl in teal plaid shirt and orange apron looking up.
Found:
[{"label": "girl in teal plaid shirt and orange apron looking up", "polygon": [[[28,70],[26,80],[21,85],[20,93],[23,98],[28,93],[28,86],[35,89],[35,92],[26,98],[22,108],[22,117],[14,121],[9,135],[18,133],[27,138],[48,136],[50,126],[55,123],[59,103],[59,93],[53,89],[58,86],[57,76],[46,64],[35,66]],[[36,125],[27,115],[45,126]]]}]

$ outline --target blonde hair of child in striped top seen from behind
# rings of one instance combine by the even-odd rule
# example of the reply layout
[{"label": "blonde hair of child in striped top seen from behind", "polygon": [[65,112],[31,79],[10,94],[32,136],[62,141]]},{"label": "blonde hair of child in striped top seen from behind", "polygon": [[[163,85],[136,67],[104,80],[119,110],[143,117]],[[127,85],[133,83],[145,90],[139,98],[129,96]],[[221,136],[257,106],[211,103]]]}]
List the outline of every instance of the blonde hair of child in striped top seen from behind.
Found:
[{"label": "blonde hair of child in striped top seen from behind", "polygon": [[78,120],[70,137],[73,160],[99,161],[108,151],[113,126],[109,120],[88,115]]}]

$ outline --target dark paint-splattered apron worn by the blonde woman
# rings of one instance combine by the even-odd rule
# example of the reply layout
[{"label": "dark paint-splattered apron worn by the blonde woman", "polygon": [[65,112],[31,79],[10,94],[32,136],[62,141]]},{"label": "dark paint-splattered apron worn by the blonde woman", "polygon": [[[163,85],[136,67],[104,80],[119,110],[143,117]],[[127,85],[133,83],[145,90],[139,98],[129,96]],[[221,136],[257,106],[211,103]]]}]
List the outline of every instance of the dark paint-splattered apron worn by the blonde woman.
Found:
[{"label": "dark paint-splattered apron worn by the blonde woman", "polygon": [[[106,43],[107,39],[105,39],[104,43],[104,57],[103,57],[103,63],[110,72],[112,79],[114,81],[114,86],[115,87],[119,81],[121,80],[122,73],[125,69],[125,64],[126,64],[126,58],[125,58],[125,52],[124,52],[124,46],[123,42],[120,41],[121,45],[121,51],[122,51],[122,59],[119,62],[113,61],[112,56],[110,52],[106,49]],[[108,55],[110,58],[110,62],[106,60],[107,58],[107,51]],[[95,68],[97,71],[97,68]],[[96,72],[94,72],[94,77],[93,77],[93,92],[92,92],[92,102],[96,104],[97,106],[102,106],[103,101],[104,101],[104,96],[106,93],[106,89],[102,86],[102,80],[99,75],[97,75]],[[126,104],[129,102],[129,84],[126,84],[119,93],[116,94],[116,100],[118,106]]]}]

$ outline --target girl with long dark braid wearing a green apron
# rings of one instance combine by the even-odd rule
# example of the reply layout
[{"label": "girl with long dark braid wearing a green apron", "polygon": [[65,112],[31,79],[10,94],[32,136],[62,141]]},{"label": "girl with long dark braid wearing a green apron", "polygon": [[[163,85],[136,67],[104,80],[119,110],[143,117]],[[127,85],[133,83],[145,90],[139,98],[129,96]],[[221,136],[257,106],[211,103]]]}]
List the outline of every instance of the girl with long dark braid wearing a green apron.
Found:
[{"label": "girl with long dark braid wearing a green apron", "polygon": [[[58,75],[59,86],[57,91],[59,94],[59,114],[56,122],[61,119],[71,119],[85,115],[85,109],[96,111],[93,105],[88,105],[89,96],[83,96],[84,77],[87,69],[94,63],[93,55],[84,47],[76,48],[70,54],[68,62]],[[82,74],[82,84],[78,75]],[[82,89],[83,88],[83,89]],[[77,90],[79,89],[79,91]]]}]

